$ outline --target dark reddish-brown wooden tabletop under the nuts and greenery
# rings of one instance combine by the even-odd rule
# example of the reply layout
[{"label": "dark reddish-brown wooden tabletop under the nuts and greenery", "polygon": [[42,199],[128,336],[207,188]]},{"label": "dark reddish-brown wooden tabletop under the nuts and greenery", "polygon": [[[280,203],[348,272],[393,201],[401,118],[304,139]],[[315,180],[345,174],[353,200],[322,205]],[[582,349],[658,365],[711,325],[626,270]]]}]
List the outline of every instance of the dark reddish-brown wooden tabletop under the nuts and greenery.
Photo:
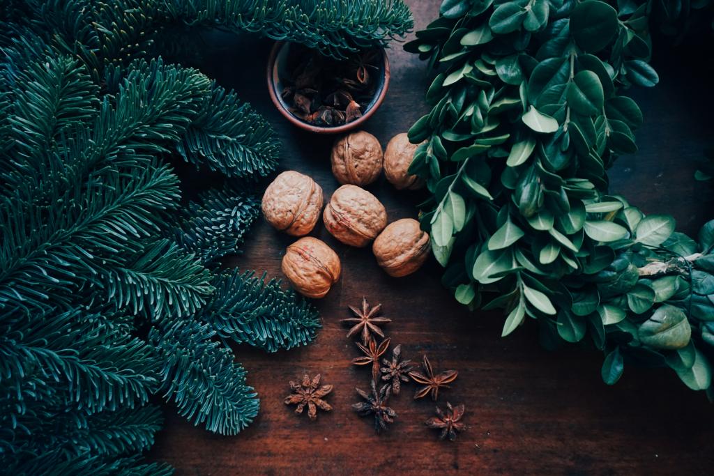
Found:
[{"label": "dark reddish-brown wooden tabletop under the nuts and greenery", "polygon": [[[409,3],[418,29],[438,13],[436,0]],[[673,214],[680,230],[695,233],[714,216],[712,186],[693,178],[695,160],[712,143],[712,67],[710,61],[702,66],[699,46],[691,52],[669,43],[655,41],[660,85],[633,91],[645,116],[637,131],[640,151],[620,158],[610,173],[612,191],[646,213]],[[270,41],[222,39],[206,52],[203,69],[236,88],[273,123],[283,143],[281,169],[312,176],[328,198],[337,187],[329,165],[332,139],[298,131],[273,108],[264,79],[270,46]],[[383,146],[426,111],[428,83],[424,64],[401,45],[393,45],[389,57],[386,101],[366,126]],[[193,185],[201,182],[197,178]],[[384,203],[390,221],[416,216],[418,193],[397,192],[383,178],[369,190]],[[620,382],[608,387],[600,380],[603,355],[597,351],[570,347],[549,353],[539,347],[530,323],[500,338],[501,315],[469,313],[457,305],[441,287],[433,259],[414,275],[389,278],[370,248],[341,245],[321,223],[313,235],[332,245],[343,263],[339,283],[316,301],[323,319],[316,341],[276,354],[236,347],[248,383],[261,397],[253,425],[236,437],[211,435],[168,407],[151,459],[170,462],[177,475],[714,473],[714,407],[669,370],[628,367]],[[243,255],[229,264],[279,276],[289,243],[291,238],[258,223]],[[386,433],[376,434],[371,420],[351,410],[358,401],[354,387],[368,388],[369,372],[350,365],[358,350],[338,320],[348,317],[347,305],[363,295],[383,303],[384,314],[393,319],[386,332],[408,358],[427,353],[436,369],[458,370],[455,385],[440,397],[441,405],[466,405],[468,430],[456,442],[440,442],[437,432],[424,426],[434,405],[413,401],[413,385],[393,398],[398,420]],[[303,373],[321,373],[324,383],[335,387],[328,397],[334,410],[321,412],[316,422],[283,405],[288,381]]]}]

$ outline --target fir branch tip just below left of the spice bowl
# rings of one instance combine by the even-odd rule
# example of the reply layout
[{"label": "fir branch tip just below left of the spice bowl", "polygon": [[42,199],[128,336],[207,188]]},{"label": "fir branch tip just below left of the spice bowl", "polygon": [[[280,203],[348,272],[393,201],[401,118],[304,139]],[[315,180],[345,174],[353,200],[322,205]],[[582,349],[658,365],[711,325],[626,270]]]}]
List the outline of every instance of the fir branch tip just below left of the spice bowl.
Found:
[{"label": "fir branch tip just below left of the spice bowl", "polygon": [[228,177],[266,176],[278,161],[273,136],[273,128],[250,104],[213,83],[177,150],[183,160]]}]

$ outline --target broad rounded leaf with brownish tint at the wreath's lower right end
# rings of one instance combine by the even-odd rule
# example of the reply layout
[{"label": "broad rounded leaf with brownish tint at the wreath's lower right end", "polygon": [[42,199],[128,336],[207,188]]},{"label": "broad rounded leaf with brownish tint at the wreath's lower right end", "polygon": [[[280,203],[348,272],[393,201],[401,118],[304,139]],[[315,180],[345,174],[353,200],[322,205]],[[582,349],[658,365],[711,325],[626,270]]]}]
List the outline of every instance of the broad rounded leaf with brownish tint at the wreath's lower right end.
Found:
[{"label": "broad rounded leaf with brownish tint at the wreath's lower right end", "polygon": [[665,304],[638,328],[640,341],[655,349],[681,349],[692,335],[687,315],[680,308]]}]

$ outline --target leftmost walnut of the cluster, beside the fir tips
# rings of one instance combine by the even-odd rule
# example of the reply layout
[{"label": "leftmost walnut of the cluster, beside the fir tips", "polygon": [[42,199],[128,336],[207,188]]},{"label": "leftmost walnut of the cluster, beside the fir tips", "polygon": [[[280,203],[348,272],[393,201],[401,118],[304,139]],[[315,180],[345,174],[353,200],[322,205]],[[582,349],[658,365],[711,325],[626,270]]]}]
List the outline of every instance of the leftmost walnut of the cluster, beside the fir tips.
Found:
[{"label": "leftmost walnut of the cluster, beside the fir tips", "polygon": [[263,216],[274,228],[292,236],[307,235],[322,210],[322,188],[296,171],[281,173],[263,194]]}]

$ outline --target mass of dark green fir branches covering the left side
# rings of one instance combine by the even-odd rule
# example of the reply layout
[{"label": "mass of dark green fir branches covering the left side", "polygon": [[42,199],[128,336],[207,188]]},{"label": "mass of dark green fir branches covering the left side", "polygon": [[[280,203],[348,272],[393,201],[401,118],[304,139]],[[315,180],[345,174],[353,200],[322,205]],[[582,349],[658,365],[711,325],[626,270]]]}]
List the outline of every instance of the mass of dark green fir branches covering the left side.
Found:
[{"label": "mass of dark green fir branches covering the left side", "polygon": [[[0,0],[3,472],[168,474],[141,461],[159,397],[236,434],[258,398],[228,344],[289,349],[320,325],[278,281],[220,268],[259,214],[271,127],[158,55],[218,28],[340,56],[411,25],[401,0]],[[172,156],[225,186],[181,201]]]}]

